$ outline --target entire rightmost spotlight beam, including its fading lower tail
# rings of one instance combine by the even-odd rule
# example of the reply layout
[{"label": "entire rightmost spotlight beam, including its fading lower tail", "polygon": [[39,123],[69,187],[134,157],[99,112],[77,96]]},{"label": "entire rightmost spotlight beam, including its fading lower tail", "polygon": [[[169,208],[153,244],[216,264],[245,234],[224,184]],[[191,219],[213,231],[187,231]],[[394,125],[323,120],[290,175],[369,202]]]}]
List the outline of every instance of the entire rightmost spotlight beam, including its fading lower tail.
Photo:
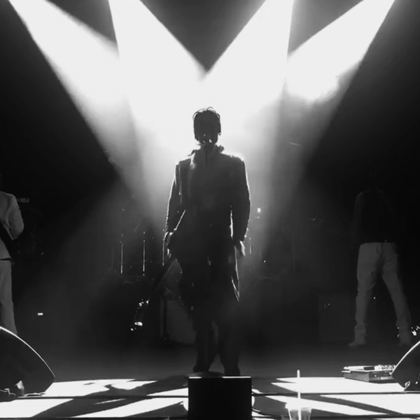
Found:
[{"label": "entire rightmost spotlight beam, including its fading lower tail", "polygon": [[297,143],[301,152],[286,156],[290,183],[283,191],[278,211],[290,202],[305,163],[349,89],[393,1],[358,3],[288,57],[281,144]]}]

